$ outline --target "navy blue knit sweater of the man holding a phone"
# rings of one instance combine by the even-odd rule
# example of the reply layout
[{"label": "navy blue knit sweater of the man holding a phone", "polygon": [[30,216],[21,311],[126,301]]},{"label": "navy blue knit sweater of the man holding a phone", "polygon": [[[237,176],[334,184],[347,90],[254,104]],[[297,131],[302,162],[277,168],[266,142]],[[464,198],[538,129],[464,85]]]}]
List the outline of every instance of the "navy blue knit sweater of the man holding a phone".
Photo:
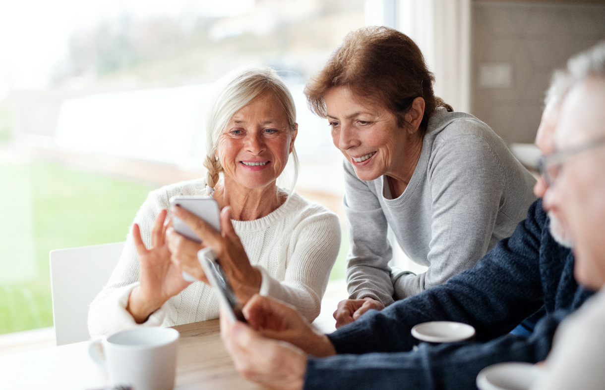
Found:
[{"label": "navy blue knit sweater of the man holding a phone", "polygon": [[[539,362],[560,321],[592,295],[574,280],[574,257],[548,231],[538,199],[511,237],[441,286],[371,310],[328,337],[338,355],[310,357],[305,389],[476,389],[479,371],[499,362]],[[509,334],[541,307],[530,337]],[[411,328],[427,321],[471,324],[474,342],[422,343]]]}]

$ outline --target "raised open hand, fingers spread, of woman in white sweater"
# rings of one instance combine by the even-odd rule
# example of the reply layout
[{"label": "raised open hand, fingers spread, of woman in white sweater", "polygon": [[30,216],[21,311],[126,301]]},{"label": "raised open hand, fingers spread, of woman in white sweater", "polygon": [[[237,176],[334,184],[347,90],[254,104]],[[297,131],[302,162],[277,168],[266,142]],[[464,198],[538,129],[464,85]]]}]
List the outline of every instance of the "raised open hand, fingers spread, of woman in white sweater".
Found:
[{"label": "raised open hand, fingers spread, of woman in white sweater", "polygon": [[140,284],[130,293],[126,310],[138,324],[145,322],[151,313],[190,284],[170,261],[170,251],[164,240],[165,219],[166,210],[162,210],[151,230],[150,249],[143,243],[139,225],[132,226],[132,238],[139,253]]}]

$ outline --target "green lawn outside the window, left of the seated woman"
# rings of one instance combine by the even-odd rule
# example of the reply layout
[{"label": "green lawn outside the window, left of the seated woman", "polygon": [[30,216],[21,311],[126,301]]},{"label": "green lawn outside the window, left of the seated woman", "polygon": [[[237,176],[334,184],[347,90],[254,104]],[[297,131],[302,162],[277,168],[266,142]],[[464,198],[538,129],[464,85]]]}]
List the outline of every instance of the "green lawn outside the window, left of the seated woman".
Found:
[{"label": "green lawn outside the window, left of the seated woman", "polygon": [[[33,269],[27,280],[0,281],[0,333],[52,326],[48,252],[125,240],[153,188],[53,163],[0,164],[0,210],[5,217],[0,270],[16,268],[18,275],[19,262],[30,260]],[[11,251],[15,242],[19,252],[15,245]]]}]

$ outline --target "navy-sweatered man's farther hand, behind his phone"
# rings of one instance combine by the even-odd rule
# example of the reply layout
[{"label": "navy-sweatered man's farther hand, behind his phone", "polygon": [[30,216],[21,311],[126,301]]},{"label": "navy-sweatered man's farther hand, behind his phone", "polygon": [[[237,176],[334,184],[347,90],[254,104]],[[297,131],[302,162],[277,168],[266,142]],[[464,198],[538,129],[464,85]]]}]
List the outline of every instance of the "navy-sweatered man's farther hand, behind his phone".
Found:
[{"label": "navy-sweatered man's farther hand, behind his phone", "polygon": [[255,295],[242,312],[248,324],[270,339],[287,341],[316,357],[336,354],[325,334],[318,334],[295,308],[266,296]]}]

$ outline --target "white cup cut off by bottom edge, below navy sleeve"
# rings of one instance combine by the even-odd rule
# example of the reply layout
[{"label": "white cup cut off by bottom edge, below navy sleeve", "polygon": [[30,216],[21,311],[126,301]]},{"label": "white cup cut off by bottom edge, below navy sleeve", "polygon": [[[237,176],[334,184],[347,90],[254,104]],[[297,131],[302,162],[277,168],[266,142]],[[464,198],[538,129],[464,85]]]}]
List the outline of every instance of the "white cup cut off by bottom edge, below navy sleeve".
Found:
[{"label": "white cup cut off by bottom edge, below navy sleeve", "polygon": [[479,390],[528,390],[542,370],[531,363],[498,363],[483,368],[477,375]]}]

